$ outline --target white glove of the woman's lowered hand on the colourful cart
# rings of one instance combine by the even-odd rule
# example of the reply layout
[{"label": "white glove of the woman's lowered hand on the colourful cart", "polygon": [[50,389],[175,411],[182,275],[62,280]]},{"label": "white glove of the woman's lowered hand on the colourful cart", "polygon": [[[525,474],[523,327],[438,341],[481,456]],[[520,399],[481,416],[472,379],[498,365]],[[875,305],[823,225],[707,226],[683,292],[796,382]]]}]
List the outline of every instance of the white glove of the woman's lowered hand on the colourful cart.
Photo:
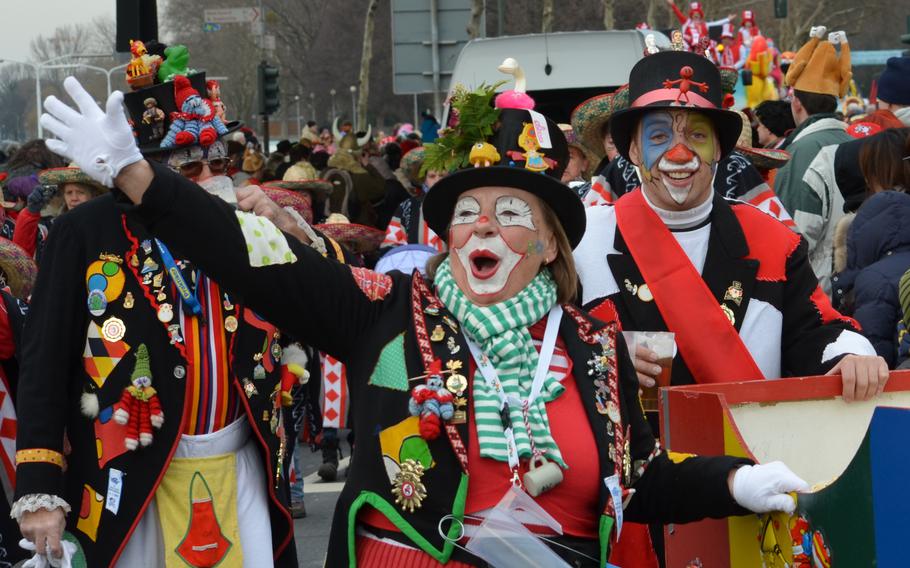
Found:
[{"label": "white glove of the woman's lowered hand on the colourful cart", "polygon": [[733,474],[733,499],[755,513],[792,513],[796,503],[788,493],[808,489],[809,484],[783,462],[747,465]]}]

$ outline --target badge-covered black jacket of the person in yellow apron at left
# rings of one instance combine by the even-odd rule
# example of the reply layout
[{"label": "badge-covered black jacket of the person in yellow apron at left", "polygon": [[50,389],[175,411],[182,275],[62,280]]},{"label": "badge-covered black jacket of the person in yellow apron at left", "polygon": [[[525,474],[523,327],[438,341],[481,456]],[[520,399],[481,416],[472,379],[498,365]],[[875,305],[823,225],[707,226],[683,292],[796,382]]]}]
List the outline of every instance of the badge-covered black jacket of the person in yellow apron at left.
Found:
[{"label": "badge-covered black jacket of the person in yellow apron at left", "polygon": [[[54,223],[33,294],[33,309],[25,324],[18,394],[17,452],[34,454],[33,450],[43,449],[65,454],[66,470],[47,461],[19,463],[16,497],[49,494],[65,499],[72,507],[67,531],[79,539],[89,566],[114,564],[154,497],[179,442],[189,392],[184,339],[179,326],[176,330],[171,327],[179,321],[179,298],[163,274],[165,264],[158,248],[150,246],[152,237],[128,211],[131,207],[118,203],[118,198],[123,200],[124,196],[98,197]],[[219,242],[217,233],[201,238]],[[176,244],[169,246],[174,258],[186,258]],[[184,265],[184,274],[192,270],[192,266]],[[99,280],[99,273],[106,281]],[[153,289],[161,282],[158,278],[167,284],[165,296]],[[94,298],[93,303],[88,297],[91,289],[103,289],[107,294],[103,310],[99,309],[100,298]],[[293,523],[288,512],[289,460],[279,463],[280,440],[270,425],[270,395],[280,379],[277,360],[267,366],[270,371],[265,378],[255,382],[255,394],[248,397],[241,384],[241,379],[254,376],[258,364],[254,356],[263,353],[264,345],[272,346],[266,349],[266,357],[280,358],[280,348],[274,347],[280,337],[270,325],[248,324],[251,314],[239,298],[223,297],[225,321],[219,323],[224,325],[229,349],[229,376],[252,426],[268,480],[268,487],[263,489],[268,495],[276,566],[296,566]],[[165,303],[174,306],[173,319],[167,323],[158,317]],[[235,320],[226,324],[229,317]],[[118,341],[105,341],[121,334]],[[105,409],[117,403],[130,384],[134,352],[140,344],[148,348],[152,386],[157,390],[164,423],[154,430],[151,445],[105,461],[108,456],[101,454],[113,446],[97,441],[99,426]],[[97,396],[101,410],[98,418],[89,418],[80,408],[84,393]],[[100,518],[89,515],[88,521],[80,520],[83,505],[108,494],[112,468],[124,472],[117,513],[104,507]]]}]

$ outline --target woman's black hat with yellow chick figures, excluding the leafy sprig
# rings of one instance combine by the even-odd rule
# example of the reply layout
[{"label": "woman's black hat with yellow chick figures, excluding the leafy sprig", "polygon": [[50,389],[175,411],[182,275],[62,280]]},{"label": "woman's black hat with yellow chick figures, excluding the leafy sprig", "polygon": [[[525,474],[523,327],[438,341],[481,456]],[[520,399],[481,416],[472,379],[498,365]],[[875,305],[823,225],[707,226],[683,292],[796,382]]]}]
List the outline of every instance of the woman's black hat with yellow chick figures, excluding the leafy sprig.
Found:
[{"label": "woman's black hat with yellow chick figures, excluding the leafy sprig", "polygon": [[[547,137],[549,144],[545,144]],[[478,187],[511,187],[533,193],[549,205],[569,243],[573,248],[578,245],[585,232],[585,209],[578,194],[560,181],[569,163],[569,145],[559,126],[539,113],[503,109],[490,140],[478,140],[475,145],[481,146],[485,158],[493,157],[489,161],[499,165],[469,167],[436,182],[423,200],[427,225],[445,238],[459,195]]]}]

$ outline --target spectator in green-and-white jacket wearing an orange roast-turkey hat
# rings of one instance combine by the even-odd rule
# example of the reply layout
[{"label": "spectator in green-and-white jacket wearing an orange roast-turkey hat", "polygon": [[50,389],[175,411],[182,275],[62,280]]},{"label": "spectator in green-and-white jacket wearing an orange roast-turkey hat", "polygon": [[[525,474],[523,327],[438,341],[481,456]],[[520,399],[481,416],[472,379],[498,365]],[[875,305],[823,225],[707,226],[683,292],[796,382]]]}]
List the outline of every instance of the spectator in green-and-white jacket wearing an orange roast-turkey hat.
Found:
[{"label": "spectator in green-and-white jacket wearing an orange roast-turkey hat", "polygon": [[[853,139],[846,132],[847,125],[835,114],[837,100],[846,94],[853,72],[846,34],[833,32],[826,36],[826,32],[824,26],[812,28],[809,41],[800,48],[787,72],[787,84],[793,87],[790,107],[796,129],[782,146],[790,152],[791,159],[778,170],[774,192],[806,238],[812,269],[822,289],[830,293],[832,235],[843,210],[837,205],[840,196],[810,165],[825,146]],[[837,44],[841,46],[840,57]]]}]

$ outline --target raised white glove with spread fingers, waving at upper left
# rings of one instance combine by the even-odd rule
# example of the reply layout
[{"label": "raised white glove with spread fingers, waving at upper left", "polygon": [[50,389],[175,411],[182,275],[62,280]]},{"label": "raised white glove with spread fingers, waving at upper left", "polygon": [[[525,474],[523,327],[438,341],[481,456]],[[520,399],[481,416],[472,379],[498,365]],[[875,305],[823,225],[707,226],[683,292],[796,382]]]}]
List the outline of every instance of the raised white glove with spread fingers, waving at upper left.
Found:
[{"label": "raised white glove with spread fingers, waving at upper left", "polygon": [[41,115],[41,126],[60,139],[48,140],[47,147],[76,162],[95,181],[114,187],[120,170],[142,160],[123,112],[123,93],[111,93],[103,112],[75,77],[67,77],[63,87],[79,111],[55,96],[44,100],[47,112]]}]

